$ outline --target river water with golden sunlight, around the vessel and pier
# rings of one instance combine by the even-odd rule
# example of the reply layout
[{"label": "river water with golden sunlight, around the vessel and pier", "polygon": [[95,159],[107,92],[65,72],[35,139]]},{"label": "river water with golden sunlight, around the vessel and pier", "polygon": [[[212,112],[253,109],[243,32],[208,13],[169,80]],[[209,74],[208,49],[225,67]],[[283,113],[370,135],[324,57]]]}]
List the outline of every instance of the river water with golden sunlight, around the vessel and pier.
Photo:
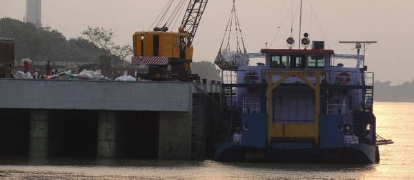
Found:
[{"label": "river water with golden sunlight, around the vessel and pier", "polygon": [[0,179],[414,179],[414,103],[375,103],[377,165],[315,165],[128,159],[0,159]]}]

